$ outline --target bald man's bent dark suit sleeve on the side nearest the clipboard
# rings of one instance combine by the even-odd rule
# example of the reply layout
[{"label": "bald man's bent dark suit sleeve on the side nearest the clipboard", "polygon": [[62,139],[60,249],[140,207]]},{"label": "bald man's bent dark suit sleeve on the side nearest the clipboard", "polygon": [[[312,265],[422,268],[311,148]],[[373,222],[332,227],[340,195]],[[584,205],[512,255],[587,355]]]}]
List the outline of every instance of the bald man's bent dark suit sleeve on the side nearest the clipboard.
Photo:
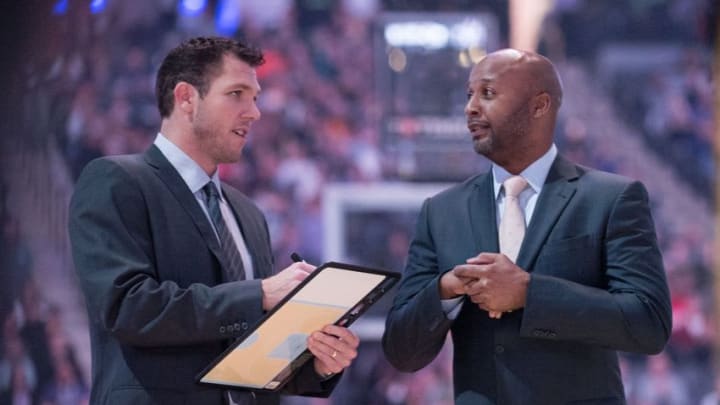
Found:
[{"label": "bald man's bent dark suit sleeve on the side nearest the clipboard", "polygon": [[442,272],[429,226],[430,209],[430,200],[426,200],[382,339],[387,359],[401,371],[416,371],[429,364],[442,349],[452,325],[440,303]]}]

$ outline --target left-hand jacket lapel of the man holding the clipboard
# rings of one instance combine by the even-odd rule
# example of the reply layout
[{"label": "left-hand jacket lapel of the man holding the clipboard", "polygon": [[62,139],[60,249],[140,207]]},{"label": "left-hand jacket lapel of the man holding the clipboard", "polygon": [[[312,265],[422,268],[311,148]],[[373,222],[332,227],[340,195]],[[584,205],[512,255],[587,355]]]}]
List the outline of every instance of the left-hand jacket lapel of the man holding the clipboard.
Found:
[{"label": "left-hand jacket lapel of the man holding the clipboard", "polygon": [[226,263],[225,255],[220,250],[220,244],[215,236],[215,232],[210,226],[210,222],[208,222],[207,216],[202,211],[202,208],[200,208],[200,205],[198,205],[197,199],[195,199],[193,193],[190,192],[190,189],[182,177],[180,177],[177,170],[175,170],[155,145],[152,145],[145,152],[144,158],[150,166],[156,169],[158,177],[165,183],[178,203],[180,203],[190,218],[192,218],[192,222],[202,235],[205,243],[207,243],[210,251],[212,251],[220,261],[222,266],[227,268],[228,263]]}]

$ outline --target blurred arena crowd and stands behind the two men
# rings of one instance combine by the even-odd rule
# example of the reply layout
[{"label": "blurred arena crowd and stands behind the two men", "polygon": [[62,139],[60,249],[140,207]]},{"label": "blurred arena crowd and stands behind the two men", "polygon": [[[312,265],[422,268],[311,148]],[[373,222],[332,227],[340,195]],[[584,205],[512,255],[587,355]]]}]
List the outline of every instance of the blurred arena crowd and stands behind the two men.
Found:
[{"label": "blurred arena crowd and stands behind the two men", "polygon": [[[89,339],[65,229],[69,197],[89,160],[152,142],[156,69],[196,35],[265,50],[263,117],[242,161],[221,176],[265,212],[278,266],[298,251],[314,263],[402,271],[422,200],[488,167],[462,115],[472,64],[510,44],[550,57],[566,92],[561,153],[643,181],[652,199],[674,330],[662,354],[622,356],[629,403],[718,403],[702,402],[720,390],[712,350],[715,1],[15,3],[0,8],[0,404],[87,401]],[[356,325],[360,357],[331,400],[285,402],[451,403],[449,345],[414,374],[383,359],[388,305]]]}]

